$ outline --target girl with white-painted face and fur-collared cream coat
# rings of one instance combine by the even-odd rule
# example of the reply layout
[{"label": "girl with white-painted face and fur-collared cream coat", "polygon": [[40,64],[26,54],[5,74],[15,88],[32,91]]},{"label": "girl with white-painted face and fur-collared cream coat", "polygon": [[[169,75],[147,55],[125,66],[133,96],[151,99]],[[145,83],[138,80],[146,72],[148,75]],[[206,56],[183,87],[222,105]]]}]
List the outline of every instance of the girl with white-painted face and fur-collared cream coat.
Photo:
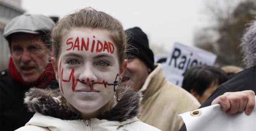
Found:
[{"label": "girl with white-painted face and fur-collared cream coat", "polygon": [[[137,119],[142,95],[118,84],[127,66],[121,23],[85,8],[52,31],[58,90],[31,89],[25,103],[36,114],[17,131],[158,131]],[[119,100],[119,102],[117,102]]]}]

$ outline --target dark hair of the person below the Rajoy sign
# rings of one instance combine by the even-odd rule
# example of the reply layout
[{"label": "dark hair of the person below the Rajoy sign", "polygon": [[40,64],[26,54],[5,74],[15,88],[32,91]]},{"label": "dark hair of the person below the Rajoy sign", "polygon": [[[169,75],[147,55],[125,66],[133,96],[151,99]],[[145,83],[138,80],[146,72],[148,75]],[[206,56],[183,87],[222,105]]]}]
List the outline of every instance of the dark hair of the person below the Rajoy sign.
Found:
[{"label": "dark hair of the person below the Rajoy sign", "polygon": [[182,88],[188,92],[193,89],[199,96],[202,96],[212,82],[220,85],[227,79],[227,74],[218,67],[193,66],[185,72]]}]

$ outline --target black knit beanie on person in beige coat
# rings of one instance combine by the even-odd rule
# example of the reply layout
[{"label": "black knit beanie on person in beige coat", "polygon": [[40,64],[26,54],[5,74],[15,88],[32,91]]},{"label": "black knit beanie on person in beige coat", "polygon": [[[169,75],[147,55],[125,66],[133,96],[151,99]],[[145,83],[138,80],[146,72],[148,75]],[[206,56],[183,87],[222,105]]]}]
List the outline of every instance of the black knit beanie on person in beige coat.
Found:
[{"label": "black knit beanie on person in beige coat", "polygon": [[139,28],[134,27],[125,30],[128,45],[132,45],[136,49],[128,49],[127,54],[134,55],[142,60],[152,71],[154,70],[154,54],[149,49],[149,40],[147,35]]}]

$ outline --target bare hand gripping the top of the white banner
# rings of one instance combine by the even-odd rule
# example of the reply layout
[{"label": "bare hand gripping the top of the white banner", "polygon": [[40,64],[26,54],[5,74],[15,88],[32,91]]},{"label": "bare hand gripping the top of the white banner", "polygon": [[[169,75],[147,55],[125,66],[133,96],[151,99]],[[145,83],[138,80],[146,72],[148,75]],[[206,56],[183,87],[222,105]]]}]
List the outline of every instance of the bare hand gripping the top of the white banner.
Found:
[{"label": "bare hand gripping the top of the white banner", "polygon": [[240,92],[226,92],[217,97],[211,102],[213,104],[220,104],[221,110],[227,114],[242,112],[245,110],[247,115],[251,114],[255,106],[254,91],[240,91]]}]

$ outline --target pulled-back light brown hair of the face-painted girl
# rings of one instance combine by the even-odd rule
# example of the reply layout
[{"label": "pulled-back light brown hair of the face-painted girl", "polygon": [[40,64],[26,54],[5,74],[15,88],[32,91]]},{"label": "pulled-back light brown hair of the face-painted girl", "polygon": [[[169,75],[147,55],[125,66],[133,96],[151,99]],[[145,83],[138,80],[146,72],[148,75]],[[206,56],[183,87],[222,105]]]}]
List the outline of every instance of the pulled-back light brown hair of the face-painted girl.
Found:
[{"label": "pulled-back light brown hair of the face-painted girl", "polygon": [[56,26],[54,27],[52,31],[52,50],[53,56],[56,60],[55,69],[57,69],[62,38],[72,28],[76,27],[109,31],[110,38],[117,47],[119,64],[121,65],[123,63],[124,59],[126,58],[125,50],[127,43],[126,35],[121,22],[107,13],[96,11],[91,7],[87,7],[79,12],[65,16],[59,22],[57,22]]}]

